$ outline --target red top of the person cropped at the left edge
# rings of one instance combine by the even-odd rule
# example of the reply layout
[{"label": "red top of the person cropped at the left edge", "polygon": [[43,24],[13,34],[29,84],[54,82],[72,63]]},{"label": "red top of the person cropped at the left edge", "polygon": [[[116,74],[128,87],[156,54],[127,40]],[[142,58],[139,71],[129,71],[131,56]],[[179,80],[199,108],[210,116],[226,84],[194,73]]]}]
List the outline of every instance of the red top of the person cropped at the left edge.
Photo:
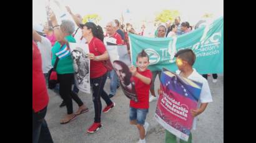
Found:
[{"label": "red top of the person cropped at the left edge", "polygon": [[32,109],[37,113],[47,106],[49,96],[46,89],[46,80],[42,73],[41,53],[34,43],[32,43],[32,51]]}]

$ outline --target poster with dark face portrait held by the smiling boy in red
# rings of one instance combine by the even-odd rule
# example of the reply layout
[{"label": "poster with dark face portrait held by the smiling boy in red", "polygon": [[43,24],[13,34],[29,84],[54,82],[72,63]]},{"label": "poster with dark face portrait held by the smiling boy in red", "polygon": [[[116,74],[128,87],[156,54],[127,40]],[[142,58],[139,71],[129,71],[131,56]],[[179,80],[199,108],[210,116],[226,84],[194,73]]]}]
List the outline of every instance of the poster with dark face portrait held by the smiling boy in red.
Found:
[{"label": "poster with dark face portrait held by the smiling boy in red", "polygon": [[110,56],[111,64],[120,80],[120,85],[124,95],[129,99],[137,101],[135,83],[132,78],[132,73],[129,70],[131,62],[130,55],[127,52],[127,46],[107,45],[106,48]]}]

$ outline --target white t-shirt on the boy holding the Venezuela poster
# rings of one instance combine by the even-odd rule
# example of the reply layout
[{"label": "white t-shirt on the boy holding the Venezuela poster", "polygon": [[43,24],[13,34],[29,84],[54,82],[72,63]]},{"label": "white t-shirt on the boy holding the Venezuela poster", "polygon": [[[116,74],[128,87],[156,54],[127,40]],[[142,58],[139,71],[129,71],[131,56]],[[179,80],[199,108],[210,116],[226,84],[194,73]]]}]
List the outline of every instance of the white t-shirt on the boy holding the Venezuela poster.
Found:
[{"label": "white t-shirt on the boy holding the Venezuela poster", "polygon": [[[177,70],[176,73],[177,73],[177,75],[179,75],[180,70]],[[210,88],[209,88],[208,81],[202,75],[197,73],[195,68],[193,68],[193,72],[187,78],[189,80],[194,80],[199,83],[203,83],[202,90],[200,93],[198,108],[200,107],[200,103],[212,102],[212,95],[210,94]],[[196,129],[196,122],[197,122],[197,117],[194,118],[192,129]]]}]

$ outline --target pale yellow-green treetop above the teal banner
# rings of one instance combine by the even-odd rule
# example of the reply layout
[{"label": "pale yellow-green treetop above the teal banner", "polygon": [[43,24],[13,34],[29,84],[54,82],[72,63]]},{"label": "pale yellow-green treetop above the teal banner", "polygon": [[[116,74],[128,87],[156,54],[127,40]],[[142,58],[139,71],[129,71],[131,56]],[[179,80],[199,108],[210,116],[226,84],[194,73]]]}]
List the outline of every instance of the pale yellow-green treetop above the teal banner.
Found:
[{"label": "pale yellow-green treetop above the teal banner", "polygon": [[179,16],[180,13],[177,10],[163,10],[155,17],[155,21],[158,22],[167,22],[167,21],[174,21],[175,17]]}]

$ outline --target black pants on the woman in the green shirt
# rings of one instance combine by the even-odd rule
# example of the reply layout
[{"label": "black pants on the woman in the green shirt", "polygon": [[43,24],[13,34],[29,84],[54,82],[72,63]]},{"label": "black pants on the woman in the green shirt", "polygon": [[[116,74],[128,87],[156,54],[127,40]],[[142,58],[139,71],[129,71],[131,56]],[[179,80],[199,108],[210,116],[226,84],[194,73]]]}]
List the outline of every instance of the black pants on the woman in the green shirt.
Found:
[{"label": "black pants on the woman in the green shirt", "polygon": [[67,114],[72,114],[73,113],[72,99],[76,101],[79,107],[84,104],[82,103],[81,99],[77,96],[77,94],[71,90],[72,83],[74,81],[74,74],[66,73],[66,74],[58,74],[57,76],[59,80],[59,95],[61,95],[61,98],[64,100],[64,103],[66,103]]}]

